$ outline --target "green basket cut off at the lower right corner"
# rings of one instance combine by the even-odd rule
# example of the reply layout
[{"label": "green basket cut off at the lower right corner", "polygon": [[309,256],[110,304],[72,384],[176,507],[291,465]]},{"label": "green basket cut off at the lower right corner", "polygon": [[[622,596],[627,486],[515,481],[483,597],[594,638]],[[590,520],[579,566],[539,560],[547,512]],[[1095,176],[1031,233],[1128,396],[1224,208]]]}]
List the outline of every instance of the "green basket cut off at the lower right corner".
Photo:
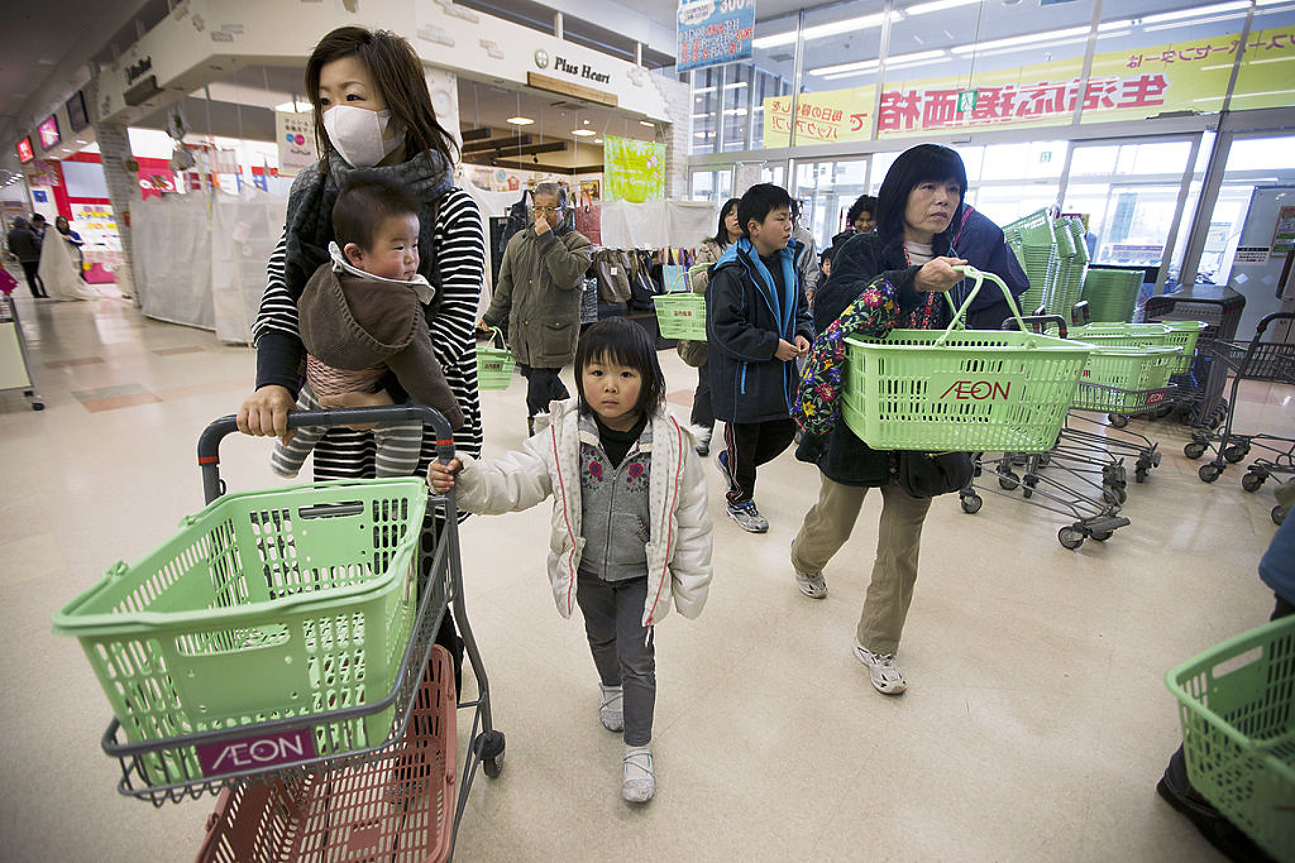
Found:
[{"label": "green basket cut off at the lower right corner", "polygon": [[1295,860],[1295,617],[1164,675],[1191,785],[1278,860]]}]

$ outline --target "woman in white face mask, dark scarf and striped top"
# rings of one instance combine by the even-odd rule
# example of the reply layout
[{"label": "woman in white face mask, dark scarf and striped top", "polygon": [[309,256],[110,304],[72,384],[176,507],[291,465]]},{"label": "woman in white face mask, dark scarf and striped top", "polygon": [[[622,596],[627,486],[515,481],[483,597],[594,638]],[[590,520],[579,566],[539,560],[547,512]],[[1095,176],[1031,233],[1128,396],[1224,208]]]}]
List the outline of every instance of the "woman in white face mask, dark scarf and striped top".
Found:
[{"label": "woman in white face mask, dark scarf and striped top", "polygon": [[[347,177],[365,169],[401,186],[418,204],[418,273],[436,289],[427,313],[433,352],[464,413],[455,446],[478,455],[482,446],[473,330],[486,269],[486,242],[477,204],[453,185],[455,141],[436,122],[422,63],[400,36],[341,27],[324,36],[306,65],[306,92],[315,105],[320,160],[293,182],[284,237],[269,259],[268,285],[253,326],[256,391],[238,410],[246,435],[287,432],[287,413],[300,388],[306,356],[297,301],[329,259],[333,203]],[[394,379],[377,393],[346,393],[330,408],[404,401]],[[422,476],[435,432],[423,430]],[[315,479],[374,475],[368,431],[337,428],[315,449]]]}]

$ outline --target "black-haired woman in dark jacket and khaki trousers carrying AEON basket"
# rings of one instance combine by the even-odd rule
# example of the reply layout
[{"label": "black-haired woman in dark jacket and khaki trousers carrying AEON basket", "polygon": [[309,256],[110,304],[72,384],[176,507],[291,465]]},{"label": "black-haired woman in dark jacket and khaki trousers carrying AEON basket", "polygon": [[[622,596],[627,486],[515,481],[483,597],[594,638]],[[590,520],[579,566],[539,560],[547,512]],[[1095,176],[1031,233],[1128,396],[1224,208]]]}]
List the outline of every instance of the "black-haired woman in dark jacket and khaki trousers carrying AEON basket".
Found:
[{"label": "black-haired woman in dark jacket and khaki trousers carrying AEON basket", "polygon": [[[966,263],[954,256],[949,225],[966,185],[966,168],[953,150],[923,144],[903,153],[882,182],[877,232],[856,234],[833,259],[831,278],[815,298],[816,331],[822,334],[847,309],[861,316],[859,329],[868,335],[947,326],[951,312],[941,294],[962,279],[954,268]],[[906,682],[895,652],[931,501],[894,481],[892,453],[870,449],[843,422],[820,435],[804,419],[799,413],[805,433],[796,458],[818,466],[821,489],[791,545],[796,582],[812,599],[828,595],[822,571],[850,538],[868,489],[881,489],[877,560],[853,648],[877,691],[899,695]]]}]

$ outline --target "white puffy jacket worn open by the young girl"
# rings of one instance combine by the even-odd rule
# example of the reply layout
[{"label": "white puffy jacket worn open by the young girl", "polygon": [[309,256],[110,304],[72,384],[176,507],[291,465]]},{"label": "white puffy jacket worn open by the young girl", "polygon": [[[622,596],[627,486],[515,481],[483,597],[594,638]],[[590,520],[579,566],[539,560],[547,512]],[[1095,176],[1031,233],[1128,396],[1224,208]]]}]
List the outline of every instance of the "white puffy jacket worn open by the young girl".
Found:
[{"label": "white puffy jacket worn open by the young girl", "polygon": [[[455,490],[461,508],[483,515],[526,510],[553,496],[549,580],[558,612],[570,617],[584,550],[579,408],[569,399],[553,402],[549,410],[548,428],[527,440],[521,452],[488,461],[460,455],[464,470]],[[693,436],[662,409],[651,418],[650,446],[648,499],[653,519],[644,626],[660,622],[671,603],[684,617],[697,617],[711,584],[711,516]]]}]

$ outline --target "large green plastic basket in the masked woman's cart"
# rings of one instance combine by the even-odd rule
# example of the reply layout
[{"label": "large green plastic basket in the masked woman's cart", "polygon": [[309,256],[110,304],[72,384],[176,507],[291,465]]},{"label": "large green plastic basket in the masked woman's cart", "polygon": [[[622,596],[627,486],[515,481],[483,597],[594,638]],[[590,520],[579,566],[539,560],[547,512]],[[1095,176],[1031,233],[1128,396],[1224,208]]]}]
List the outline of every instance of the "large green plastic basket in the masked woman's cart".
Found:
[{"label": "large green plastic basket in the masked woman's cart", "polygon": [[[109,569],[54,615],[54,633],[80,640],[132,743],[377,704],[417,612],[426,506],[418,477],[221,496]],[[315,726],[316,753],[381,744],[392,709]],[[146,779],[238,766],[184,758],[148,757]]]}]

